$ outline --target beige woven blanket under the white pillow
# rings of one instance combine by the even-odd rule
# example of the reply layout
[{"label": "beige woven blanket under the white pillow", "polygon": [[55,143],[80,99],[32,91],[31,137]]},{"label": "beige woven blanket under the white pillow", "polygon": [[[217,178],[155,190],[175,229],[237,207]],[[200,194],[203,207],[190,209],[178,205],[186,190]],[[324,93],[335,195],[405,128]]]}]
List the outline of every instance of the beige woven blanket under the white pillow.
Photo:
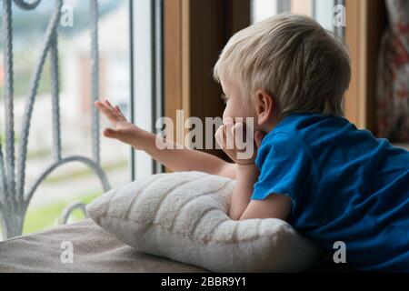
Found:
[{"label": "beige woven blanket under the white pillow", "polygon": [[[71,249],[72,256],[67,253]],[[137,252],[86,219],[0,242],[0,272],[189,273],[206,270]]]}]

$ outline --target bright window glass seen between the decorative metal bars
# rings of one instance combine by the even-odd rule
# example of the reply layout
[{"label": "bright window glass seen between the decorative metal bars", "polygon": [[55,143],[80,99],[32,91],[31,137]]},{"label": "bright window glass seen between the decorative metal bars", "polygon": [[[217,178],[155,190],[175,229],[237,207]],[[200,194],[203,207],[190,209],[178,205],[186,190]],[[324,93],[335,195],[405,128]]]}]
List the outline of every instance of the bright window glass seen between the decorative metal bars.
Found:
[{"label": "bright window glass seen between the decorative metal bars", "polygon": [[[64,21],[58,27],[60,115],[62,156],[92,158],[91,147],[91,58],[90,2],[65,0]],[[100,98],[120,105],[125,115],[130,109],[130,29],[128,0],[99,0]],[[55,9],[55,1],[42,1],[35,10],[25,11],[13,4],[15,63],[15,156],[35,62],[45,38],[45,27]],[[71,15],[70,15],[71,14]],[[3,15],[1,15],[2,17]],[[71,18],[70,18],[71,17]],[[3,41],[3,39],[1,40]],[[4,47],[0,44],[0,138],[5,154]],[[45,64],[28,139],[25,191],[47,166],[54,162],[50,69]],[[110,126],[100,117],[101,131]],[[111,187],[130,181],[130,147],[101,135],[101,166]],[[88,166],[73,162],[59,166],[36,189],[25,217],[24,234],[55,226],[65,206],[74,201],[89,203],[104,193],[99,178]],[[69,222],[83,219],[75,211]],[[1,227],[1,226],[0,226]]]}]

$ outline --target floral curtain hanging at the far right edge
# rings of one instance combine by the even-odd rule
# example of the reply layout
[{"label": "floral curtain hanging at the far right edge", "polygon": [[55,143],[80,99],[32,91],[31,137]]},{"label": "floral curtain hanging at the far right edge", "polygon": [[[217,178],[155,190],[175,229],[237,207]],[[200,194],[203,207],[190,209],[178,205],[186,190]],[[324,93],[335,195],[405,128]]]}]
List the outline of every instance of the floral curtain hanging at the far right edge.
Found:
[{"label": "floral curtain hanging at the far right edge", "polygon": [[377,135],[409,142],[409,0],[385,0],[377,88]]}]

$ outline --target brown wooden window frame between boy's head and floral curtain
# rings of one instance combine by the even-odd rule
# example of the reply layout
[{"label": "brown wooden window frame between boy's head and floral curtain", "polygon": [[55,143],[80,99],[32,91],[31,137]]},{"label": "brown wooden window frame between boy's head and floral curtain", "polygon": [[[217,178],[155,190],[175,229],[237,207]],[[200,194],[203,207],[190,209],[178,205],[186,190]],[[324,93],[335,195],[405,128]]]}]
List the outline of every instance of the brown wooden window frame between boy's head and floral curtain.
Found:
[{"label": "brown wooden window frame between boy's head and floral curtain", "polygon": [[385,26],[384,1],[345,0],[345,8],[352,80],[344,98],[344,114],[357,127],[376,134],[377,60]]}]

